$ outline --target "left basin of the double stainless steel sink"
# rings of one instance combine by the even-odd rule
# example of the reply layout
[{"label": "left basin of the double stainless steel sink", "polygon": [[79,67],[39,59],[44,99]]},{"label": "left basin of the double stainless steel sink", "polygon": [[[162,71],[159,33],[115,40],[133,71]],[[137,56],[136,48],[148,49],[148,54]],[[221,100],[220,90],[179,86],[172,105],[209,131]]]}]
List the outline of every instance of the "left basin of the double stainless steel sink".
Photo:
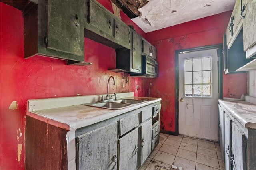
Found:
[{"label": "left basin of the double stainless steel sink", "polygon": [[97,103],[88,103],[88,104],[83,104],[83,105],[117,110],[117,109],[123,109],[124,107],[128,107],[131,104],[117,103],[117,102],[100,102],[100,103],[97,102]]}]

